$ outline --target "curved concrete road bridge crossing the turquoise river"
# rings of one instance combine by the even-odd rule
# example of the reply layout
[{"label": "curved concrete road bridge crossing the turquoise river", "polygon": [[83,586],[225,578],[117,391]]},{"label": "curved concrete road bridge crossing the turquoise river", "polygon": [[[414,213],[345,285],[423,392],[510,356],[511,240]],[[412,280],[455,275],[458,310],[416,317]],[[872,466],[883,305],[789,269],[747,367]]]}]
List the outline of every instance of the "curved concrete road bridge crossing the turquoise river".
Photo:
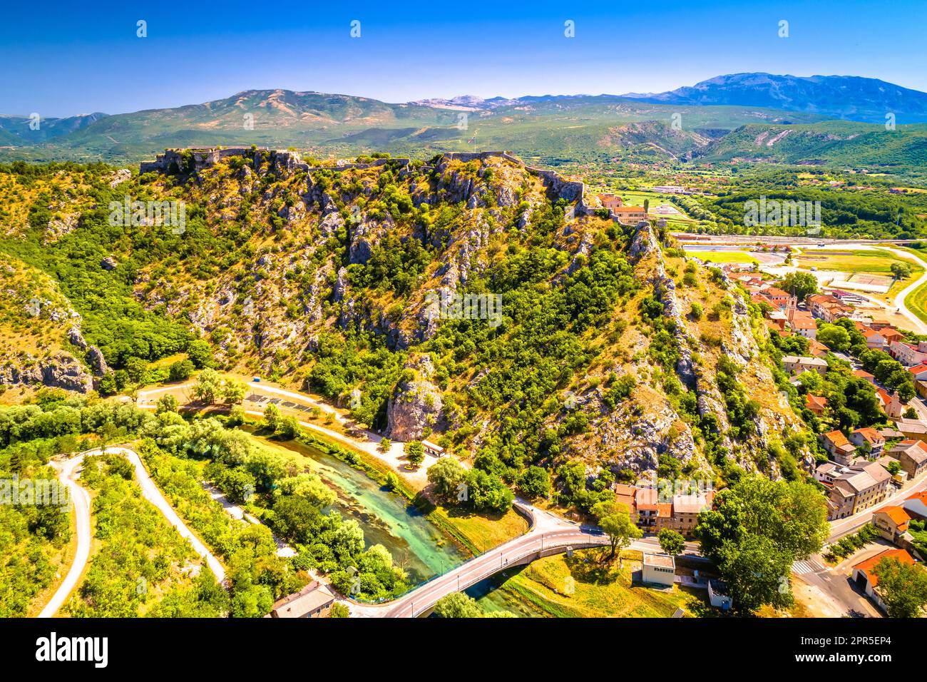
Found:
[{"label": "curved concrete road bridge crossing the turquoise river", "polygon": [[[419,585],[400,598],[382,604],[362,604],[346,600],[352,617],[358,618],[414,618],[430,611],[439,598],[460,592],[490,575],[513,566],[531,563],[541,557],[561,554],[567,549],[602,547],[608,545],[608,536],[597,529],[566,521],[548,511],[515,502],[515,508],[527,516],[531,527],[526,534],[509,540],[474,557],[447,573],[438,575]],[[641,547],[636,547],[641,545]],[[649,543],[636,542],[635,549],[646,547],[660,551]]]}]

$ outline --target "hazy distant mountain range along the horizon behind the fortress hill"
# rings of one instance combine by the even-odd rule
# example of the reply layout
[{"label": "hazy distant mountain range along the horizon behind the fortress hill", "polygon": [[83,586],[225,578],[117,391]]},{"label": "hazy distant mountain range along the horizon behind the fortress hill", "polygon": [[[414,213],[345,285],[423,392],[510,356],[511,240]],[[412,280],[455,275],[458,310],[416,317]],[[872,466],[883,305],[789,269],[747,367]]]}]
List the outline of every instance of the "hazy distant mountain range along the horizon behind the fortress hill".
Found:
[{"label": "hazy distant mountain range along the horizon behind the fortress hill", "polygon": [[[897,123],[890,135],[886,111]],[[0,116],[0,160],[127,163],[166,147],[256,144],[321,157],[506,148],[548,165],[717,160],[923,167],[927,125],[906,125],[922,121],[927,94],[844,76],[742,73],[656,95],[462,96],[404,104],[248,90],[174,109],[44,119],[37,130],[28,116]]]}]

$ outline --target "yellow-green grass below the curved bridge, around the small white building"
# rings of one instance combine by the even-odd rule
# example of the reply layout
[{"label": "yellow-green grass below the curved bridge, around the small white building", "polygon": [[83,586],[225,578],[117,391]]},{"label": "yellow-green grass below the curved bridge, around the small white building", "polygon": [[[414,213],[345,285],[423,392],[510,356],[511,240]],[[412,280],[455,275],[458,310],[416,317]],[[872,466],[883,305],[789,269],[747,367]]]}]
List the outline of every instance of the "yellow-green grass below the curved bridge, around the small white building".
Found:
[{"label": "yellow-green grass below the curved bridge, around the small white building", "polygon": [[603,562],[607,550],[587,549],[572,557],[537,560],[502,586],[541,611],[561,618],[668,618],[681,608],[700,612],[703,599],[674,586],[671,590],[632,585],[641,553],[625,552],[624,566]]}]

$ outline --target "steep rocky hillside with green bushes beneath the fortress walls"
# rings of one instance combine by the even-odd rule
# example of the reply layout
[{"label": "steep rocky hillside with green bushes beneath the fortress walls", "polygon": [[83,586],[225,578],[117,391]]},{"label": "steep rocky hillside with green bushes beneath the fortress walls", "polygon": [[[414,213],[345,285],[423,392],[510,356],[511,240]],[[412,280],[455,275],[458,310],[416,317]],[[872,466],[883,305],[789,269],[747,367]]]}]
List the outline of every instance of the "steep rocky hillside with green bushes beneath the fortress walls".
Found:
[{"label": "steep rocky hillside with green bushes beneath the fortress walls", "polygon": [[[604,219],[498,155],[292,161],[0,169],[10,277],[49,291],[7,304],[0,332],[31,345],[7,345],[3,382],[108,395],[257,374],[513,487],[547,470],[585,510],[654,470],[730,483],[812,461],[760,311],[659,225]],[[126,197],[183,201],[183,229],[116,224]]]}]

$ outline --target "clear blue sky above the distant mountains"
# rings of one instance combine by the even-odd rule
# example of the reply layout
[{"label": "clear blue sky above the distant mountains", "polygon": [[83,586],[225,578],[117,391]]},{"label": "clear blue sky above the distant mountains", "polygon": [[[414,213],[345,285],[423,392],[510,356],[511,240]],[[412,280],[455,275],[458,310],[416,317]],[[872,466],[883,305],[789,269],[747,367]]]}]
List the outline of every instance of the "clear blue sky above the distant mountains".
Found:
[{"label": "clear blue sky above the distant mountains", "polygon": [[[662,92],[739,71],[869,76],[927,91],[924,0],[128,5],[7,3],[0,113],[121,113],[274,87],[390,102]],[[136,37],[139,19],[146,38]],[[568,19],[574,38],[564,35]]]}]

